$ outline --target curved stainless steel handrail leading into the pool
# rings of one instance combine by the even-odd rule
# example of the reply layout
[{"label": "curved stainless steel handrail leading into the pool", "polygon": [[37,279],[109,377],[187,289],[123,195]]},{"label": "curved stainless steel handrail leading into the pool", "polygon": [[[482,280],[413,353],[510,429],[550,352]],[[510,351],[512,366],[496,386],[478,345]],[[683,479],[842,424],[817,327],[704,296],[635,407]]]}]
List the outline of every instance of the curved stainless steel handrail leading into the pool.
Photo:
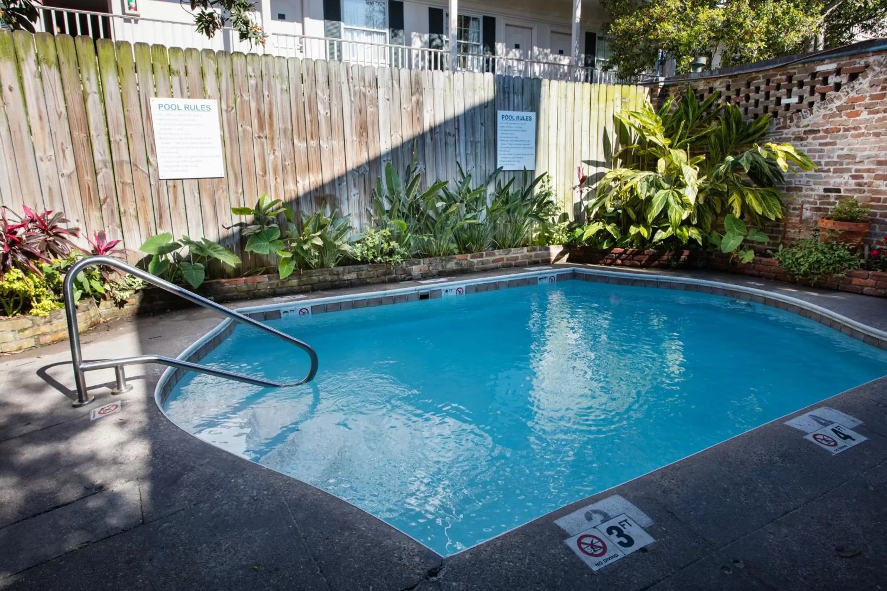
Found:
[{"label": "curved stainless steel handrail leading into the pool", "polygon": [[[74,281],[77,274],[80,273],[84,268],[94,267],[97,265],[119,268],[122,271],[126,271],[130,275],[137,276],[139,279],[142,279],[149,284],[160,287],[162,290],[173,293],[181,298],[187,299],[193,304],[197,304],[201,307],[206,307],[210,310],[218,312],[219,314],[227,318],[231,318],[234,322],[249,324],[254,328],[270,334],[272,337],[286,340],[293,345],[298,346],[310,357],[311,368],[308,371],[308,375],[298,382],[281,384],[279,382],[272,382],[271,380],[263,379],[262,377],[244,376],[243,374],[234,373],[233,371],[210,368],[206,365],[200,365],[199,363],[184,362],[179,359],[172,359],[169,357],[163,357],[161,355],[139,355],[137,357],[122,357],[120,359],[107,359],[98,362],[83,362],[83,355],[80,349],[80,327],[77,326],[77,308],[74,301]],[[198,371],[210,376],[227,377],[239,382],[246,382],[247,384],[262,385],[271,388],[282,388],[291,385],[305,384],[306,382],[310,382],[318,373],[318,354],[315,353],[314,349],[311,348],[308,343],[302,342],[298,338],[290,337],[285,332],[272,329],[267,324],[260,323],[257,320],[253,320],[249,316],[242,315],[239,312],[235,312],[231,308],[216,304],[216,302],[214,301],[203,298],[196,293],[189,292],[179,287],[176,284],[171,284],[169,283],[169,281],[164,281],[160,277],[153,276],[140,268],[133,267],[132,265],[128,265],[122,261],[117,261],[116,259],[112,259],[111,257],[91,256],[75,262],[75,264],[67,270],[67,274],[65,275],[64,297],[65,315],[67,317],[67,337],[71,342],[71,361],[74,362],[74,380],[77,386],[77,400],[75,400],[74,402],[75,407],[82,407],[86,404],[89,404],[92,400],[95,400],[95,397],[90,396],[86,390],[86,376],[84,375],[85,372],[92,371],[94,369],[114,368],[117,385],[114,390],[112,390],[112,392],[121,393],[126,392],[130,389],[130,386],[126,384],[126,374],[123,372],[123,366],[133,365],[136,363],[160,363],[161,365],[169,365],[174,368]]]}]

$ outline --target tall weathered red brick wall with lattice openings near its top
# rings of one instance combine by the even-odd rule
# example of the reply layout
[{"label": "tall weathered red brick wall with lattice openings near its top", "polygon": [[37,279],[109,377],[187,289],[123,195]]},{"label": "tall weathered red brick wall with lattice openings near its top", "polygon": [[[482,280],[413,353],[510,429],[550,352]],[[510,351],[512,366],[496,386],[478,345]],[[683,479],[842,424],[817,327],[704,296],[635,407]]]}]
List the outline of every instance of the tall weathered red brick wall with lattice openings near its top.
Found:
[{"label": "tall weathered red brick wall with lattice openings near its top", "polygon": [[789,195],[785,219],[768,229],[774,242],[809,235],[820,215],[844,197],[869,208],[869,245],[887,233],[887,51],[670,80],[660,98],[687,86],[699,97],[720,91],[721,100],[740,106],[749,119],[771,113],[765,141],[794,144],[816,163],[816,170],[790,175],[783,187]]}]

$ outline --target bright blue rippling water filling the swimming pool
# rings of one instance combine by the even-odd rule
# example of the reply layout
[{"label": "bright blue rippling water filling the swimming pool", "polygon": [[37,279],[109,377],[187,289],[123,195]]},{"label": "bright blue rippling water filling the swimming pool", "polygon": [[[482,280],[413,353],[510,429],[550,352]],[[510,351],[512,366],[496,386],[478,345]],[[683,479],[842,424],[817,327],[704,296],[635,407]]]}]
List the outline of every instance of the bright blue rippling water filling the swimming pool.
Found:
[{"label": "bright blue rippling water filling the swimming pool", "polygon": [[[313,385],[186,378],[166,410],[441,555],[887,374],[887,353],[773,307],[567,281],[271,324]],[[205,362],[281,381],[239,327]]]}]

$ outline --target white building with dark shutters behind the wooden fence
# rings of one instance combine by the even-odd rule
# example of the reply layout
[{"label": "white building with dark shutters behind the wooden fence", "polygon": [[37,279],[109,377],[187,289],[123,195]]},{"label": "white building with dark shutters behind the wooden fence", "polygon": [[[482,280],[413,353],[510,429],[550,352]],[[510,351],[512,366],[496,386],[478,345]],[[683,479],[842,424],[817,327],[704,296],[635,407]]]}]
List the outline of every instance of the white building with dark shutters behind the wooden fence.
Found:
[{"label": "white building with dark shutters behind the wooden fence", "polygon": [[[597,0],[255,0],[264,47],[207,39],[179,0],[43,0],[42,30],[358,64],[608,82]],[[455,31],[451,35],[450,30]],[[452,44],[455,43],[455,48]],[[454,52],[453,49],[456,51]],[[455,53],[455,55],[453,55]]]}]

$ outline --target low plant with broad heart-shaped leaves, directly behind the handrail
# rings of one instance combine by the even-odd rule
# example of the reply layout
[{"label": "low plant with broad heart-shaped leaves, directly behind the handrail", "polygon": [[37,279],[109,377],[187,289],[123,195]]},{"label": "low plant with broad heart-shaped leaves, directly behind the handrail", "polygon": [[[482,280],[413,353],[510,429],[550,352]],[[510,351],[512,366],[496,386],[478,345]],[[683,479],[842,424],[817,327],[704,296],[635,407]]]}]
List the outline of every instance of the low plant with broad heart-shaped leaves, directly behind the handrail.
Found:
[{"label": "low plant with broad heart-shaped leaves, directly behind the handrail", "polygon": [[169,232],[148,238],[138,250],[152,255],[149,273],[173,283],[184,280],[194,289],[206,280],[208,261],[221,261],[229,267],[240,263],[236,254],[207,238],[173,240]]}]

